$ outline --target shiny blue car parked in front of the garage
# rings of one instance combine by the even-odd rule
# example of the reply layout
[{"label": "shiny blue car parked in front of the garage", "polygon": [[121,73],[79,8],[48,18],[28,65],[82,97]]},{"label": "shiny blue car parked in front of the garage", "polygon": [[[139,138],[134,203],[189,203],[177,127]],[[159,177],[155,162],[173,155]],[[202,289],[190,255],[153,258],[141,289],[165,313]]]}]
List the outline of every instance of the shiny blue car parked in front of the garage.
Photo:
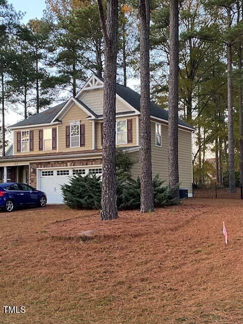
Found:
[{"label": "shiny blue car parked in front of the garage", "polygon": [[47,205],[47,194],[17,182],[0,184],[0,208],[12,212],[16,207]]}]

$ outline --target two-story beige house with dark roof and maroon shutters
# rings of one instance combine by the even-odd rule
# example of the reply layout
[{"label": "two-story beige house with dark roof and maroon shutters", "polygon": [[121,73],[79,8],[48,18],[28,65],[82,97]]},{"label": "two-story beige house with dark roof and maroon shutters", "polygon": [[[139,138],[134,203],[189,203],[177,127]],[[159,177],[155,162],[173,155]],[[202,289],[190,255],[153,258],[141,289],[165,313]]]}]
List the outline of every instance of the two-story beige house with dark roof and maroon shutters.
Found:
[{"label": "two-story beige house with dark roof and maroon shutters", "polygon": [[[103,79],[93,75],[76,97],[9,127],[13,153],[0,158],[4,182],[29,183],[48,194],[49,203],[62,203],[60,185],[75,174],[102,174]],[[140,95],[116,85],[116,144],[140,165]],[[192,196],[193,127],[179,121],[181,188]],[[168,180],[168,112],[151,102],[153,176]]]}]

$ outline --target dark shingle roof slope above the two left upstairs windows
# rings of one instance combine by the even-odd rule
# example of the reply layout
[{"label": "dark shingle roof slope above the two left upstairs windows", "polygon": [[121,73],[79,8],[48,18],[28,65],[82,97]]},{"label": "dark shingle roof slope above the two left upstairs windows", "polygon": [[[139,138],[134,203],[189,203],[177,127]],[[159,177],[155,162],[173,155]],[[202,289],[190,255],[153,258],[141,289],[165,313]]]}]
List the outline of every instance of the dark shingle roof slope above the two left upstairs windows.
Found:
[{"label": "dark shingle roof slope above the two left upstairs windows", "polygon": [[35,115],[19,121],[12,125],[11,127],[20,127],[20,126],[28,126],[28,125],[38,125],[38,124],[48,124],[51,123],[52,119],[56,116],[56,114],[62,109],[65,105],[65,102],[59,103],[57,106],[47,109],[43,112],[36,113]]}]

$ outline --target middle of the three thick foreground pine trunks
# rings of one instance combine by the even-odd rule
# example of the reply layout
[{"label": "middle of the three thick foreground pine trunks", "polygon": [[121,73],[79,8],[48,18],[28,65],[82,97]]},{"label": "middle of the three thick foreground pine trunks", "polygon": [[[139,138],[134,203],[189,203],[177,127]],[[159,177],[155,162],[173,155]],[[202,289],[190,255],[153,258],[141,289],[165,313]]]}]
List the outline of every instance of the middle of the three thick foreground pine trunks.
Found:
[{"label": "middle of the three thick foreground pine trunks", "polygon": [[149,0],[139,0],[141,78],[141,212],[153,211],[149,89]]}]

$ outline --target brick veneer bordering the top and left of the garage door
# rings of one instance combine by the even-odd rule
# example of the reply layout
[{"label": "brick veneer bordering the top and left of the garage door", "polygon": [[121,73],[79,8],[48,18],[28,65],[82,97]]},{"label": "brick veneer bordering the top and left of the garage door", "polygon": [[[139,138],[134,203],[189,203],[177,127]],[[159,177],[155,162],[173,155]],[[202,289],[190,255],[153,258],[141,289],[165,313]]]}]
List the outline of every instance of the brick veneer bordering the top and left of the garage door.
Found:
[{"label": "brick veneer bordering the top and left of the garage door", "polygon": [[[102,159],[88,159],[88,160],[65,160],[65,161],[50,161],[50,162],[34,162],[29,164],[29,184],[36,187],[37,168],[69,168],[79,166],[95,166],[101,165]],[[31,171],[33,169],[33,172]]]}]

